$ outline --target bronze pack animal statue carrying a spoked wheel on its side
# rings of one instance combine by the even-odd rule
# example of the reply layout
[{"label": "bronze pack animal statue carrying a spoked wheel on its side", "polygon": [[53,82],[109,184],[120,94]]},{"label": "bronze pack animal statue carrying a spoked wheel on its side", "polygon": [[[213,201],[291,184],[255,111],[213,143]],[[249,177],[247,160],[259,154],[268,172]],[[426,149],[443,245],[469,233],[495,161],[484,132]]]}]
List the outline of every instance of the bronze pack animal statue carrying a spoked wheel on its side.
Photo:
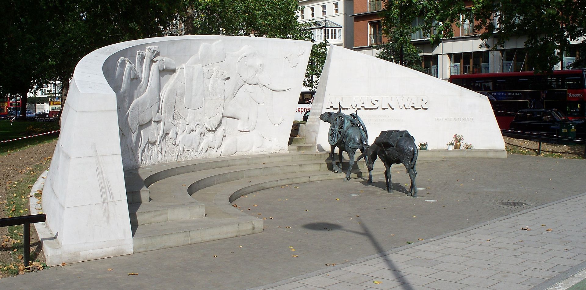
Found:
[{"label": "bronze pack animal statue carrying a spoked wheel on its side", "polygon": [[[357,114],[346,115],[341,112],[325,112],[319,116],[319,119],[324,122],[329,122],[330,128],[328,131],[328,142],[331,146],[330,158],[332,159],[332,171],[342,171],[342,152],[348,153],[350,164],[346,172],[344,181],[350,180],[350,171],[354,166],[354,158],[356,149],[360,149],[360,152],[366,151],[368,148],[368,133],[364,123],[360,120]],[[340,166],[336,164],[334,157],[334,149],[338,147],[338,158]],[[366,164],[368,160],[365,158]],[[370,176],[370,172],[369,172]]]}]

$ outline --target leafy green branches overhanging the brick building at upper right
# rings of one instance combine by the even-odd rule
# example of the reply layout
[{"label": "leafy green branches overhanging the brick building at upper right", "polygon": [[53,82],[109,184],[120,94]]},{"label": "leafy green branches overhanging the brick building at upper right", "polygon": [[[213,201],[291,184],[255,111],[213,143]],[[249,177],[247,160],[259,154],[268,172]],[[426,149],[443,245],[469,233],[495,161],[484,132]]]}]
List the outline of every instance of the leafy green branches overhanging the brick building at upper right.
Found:
[{"label": "leafy green branches overhanging the brick building at upper right", "polygon": [[[466,8],[471,3],[472,8]],[[570,41],[586,36],[583,0],[399,0],[387,1],[383,26],[404,29],[415,18],[416,29],[430,34],[431,43],[454,36],[462,20],[473,22],[473,30],[489,49],[503,48],[507,40],[526,37],[524,46],[535,70],[550,71],[562,60]],[[490,42],[487,40],[492,39]]]}]

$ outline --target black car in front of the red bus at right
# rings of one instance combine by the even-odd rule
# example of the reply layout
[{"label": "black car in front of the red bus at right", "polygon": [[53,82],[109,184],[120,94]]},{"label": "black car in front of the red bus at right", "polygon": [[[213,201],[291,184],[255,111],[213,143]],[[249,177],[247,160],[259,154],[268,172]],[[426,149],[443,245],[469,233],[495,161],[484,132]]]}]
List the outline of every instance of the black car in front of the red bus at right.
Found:
[{"label": "black car in front of the red bus at right", "polygon": [[546,109],[520,110],[511,121],[509,129],[523,132],[536,132],[558,135],[560,122],[570,122],[576,128],[576,137],[583,138],[586,134],[584,121],[570,120],[560,111]]}]

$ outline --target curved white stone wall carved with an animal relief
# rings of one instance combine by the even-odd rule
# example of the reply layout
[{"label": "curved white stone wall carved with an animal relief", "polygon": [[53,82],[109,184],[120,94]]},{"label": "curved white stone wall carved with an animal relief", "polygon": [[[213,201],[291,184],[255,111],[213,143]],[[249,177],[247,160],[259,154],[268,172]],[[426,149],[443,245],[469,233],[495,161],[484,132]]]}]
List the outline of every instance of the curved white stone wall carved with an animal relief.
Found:
[{"label": "curved white stone wall carved with an animal relief", "polygon": [[125,169],[287,152],[310,52],[299,40],[171,36],[81,59],[43,187],[47,262],[132,253]]}]

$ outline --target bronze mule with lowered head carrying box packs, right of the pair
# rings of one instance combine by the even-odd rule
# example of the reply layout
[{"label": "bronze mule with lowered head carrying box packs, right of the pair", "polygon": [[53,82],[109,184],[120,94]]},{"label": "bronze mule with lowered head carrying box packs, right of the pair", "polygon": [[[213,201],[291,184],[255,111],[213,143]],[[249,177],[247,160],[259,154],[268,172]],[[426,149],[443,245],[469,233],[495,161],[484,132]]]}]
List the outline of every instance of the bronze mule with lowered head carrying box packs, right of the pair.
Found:
[{"label": "bronze mule with lowered head carrying box packs, right of the pair", "polygon": [[407,131],[383,131],[380,132],[372,145],[363,152],[356,161],[364,158],[366,166],[369,170],[368,183],[372,183],[372,171],[374,161],[377,156],[384,163],[384,182],[387,185],[387,192],[393,192],[393,183],[391,183],[391,165],[403,163],[409,178],[411,179],[411,187],[409,192],[412,197],[417,197],[417,187],[415,187],[415,162],[417,162],[417,145],[415,139]]}]

